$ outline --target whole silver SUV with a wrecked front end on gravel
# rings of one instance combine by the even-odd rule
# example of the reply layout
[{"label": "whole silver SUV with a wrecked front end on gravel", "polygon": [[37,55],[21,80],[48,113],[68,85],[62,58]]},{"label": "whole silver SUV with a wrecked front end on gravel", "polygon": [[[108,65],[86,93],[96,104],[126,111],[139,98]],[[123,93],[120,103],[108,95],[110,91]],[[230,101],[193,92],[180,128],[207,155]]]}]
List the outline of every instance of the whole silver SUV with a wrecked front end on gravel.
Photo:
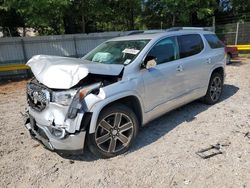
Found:
[{"label": "whole silver SUV with a wrecked front end on gravel", "polygon": [[220,99],[223,44],[209,31],[189,29],[123,36],[81,59],[34,56],[27,63],[26,128],[48,149],[124,153],[139,127],[202,99]]}]

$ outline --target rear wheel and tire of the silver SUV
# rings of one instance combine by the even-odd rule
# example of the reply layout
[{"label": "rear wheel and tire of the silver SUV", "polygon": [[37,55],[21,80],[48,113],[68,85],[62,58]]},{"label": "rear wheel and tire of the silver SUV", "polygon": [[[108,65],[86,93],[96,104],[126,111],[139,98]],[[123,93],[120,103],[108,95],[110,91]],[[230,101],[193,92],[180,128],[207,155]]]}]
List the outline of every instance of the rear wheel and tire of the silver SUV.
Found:
[{"label": "rear wheel and tire of the silver SUV", "polygon": [[223,76],[219,73],[213,73],[206,95],[203,97],[203,102],[209,105],[213,105],[220,100],[223,90]]}]

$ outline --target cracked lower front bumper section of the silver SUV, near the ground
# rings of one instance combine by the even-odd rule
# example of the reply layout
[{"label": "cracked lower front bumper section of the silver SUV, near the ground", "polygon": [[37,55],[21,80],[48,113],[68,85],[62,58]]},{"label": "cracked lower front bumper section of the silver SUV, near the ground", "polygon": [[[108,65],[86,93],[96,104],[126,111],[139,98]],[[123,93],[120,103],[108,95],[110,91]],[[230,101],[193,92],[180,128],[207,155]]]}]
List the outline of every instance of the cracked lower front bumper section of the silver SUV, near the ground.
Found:
[{"label": "cracked lower front bumper section of the silver SUV, near the ground", "polygon": [[29,130],[32,138],[51,151],[71,154],[83,152],[86,131],[74,134],[65,133],[64,137],[56,137],[52,134],[53,127],[39,125],[32,116],[28,116],[25,127]]}]

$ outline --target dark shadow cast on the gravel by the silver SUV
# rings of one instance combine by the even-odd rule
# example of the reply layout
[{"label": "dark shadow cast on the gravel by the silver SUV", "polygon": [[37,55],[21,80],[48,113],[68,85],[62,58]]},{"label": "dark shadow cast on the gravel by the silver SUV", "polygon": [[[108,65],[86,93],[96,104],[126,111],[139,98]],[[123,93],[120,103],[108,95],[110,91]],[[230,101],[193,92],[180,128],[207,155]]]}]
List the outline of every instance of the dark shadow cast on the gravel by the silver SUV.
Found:
[{"label": "dark shadow cast on the gravel by the silver SUV", "polygon": [[[235,95],[238,90],[239,88],[236,86],[225,84],[220,102],[225,101],[231,96]],[[138,137],[128,153],[134,152],[157,141],[159,138],[161,138],[183,122],[193,121],[196,115],[207,110],[210,107],[210,105],[205,105],[199,101],[194,101],[155,119],[139,131]],[[92,153],[90,153],[90,151],[87,149],[85,149],[84,154],[81,156],[68,155],[62,157],[70,160],[82,161],[94,161],[98,159],[97,157],[93,156]]]}]

